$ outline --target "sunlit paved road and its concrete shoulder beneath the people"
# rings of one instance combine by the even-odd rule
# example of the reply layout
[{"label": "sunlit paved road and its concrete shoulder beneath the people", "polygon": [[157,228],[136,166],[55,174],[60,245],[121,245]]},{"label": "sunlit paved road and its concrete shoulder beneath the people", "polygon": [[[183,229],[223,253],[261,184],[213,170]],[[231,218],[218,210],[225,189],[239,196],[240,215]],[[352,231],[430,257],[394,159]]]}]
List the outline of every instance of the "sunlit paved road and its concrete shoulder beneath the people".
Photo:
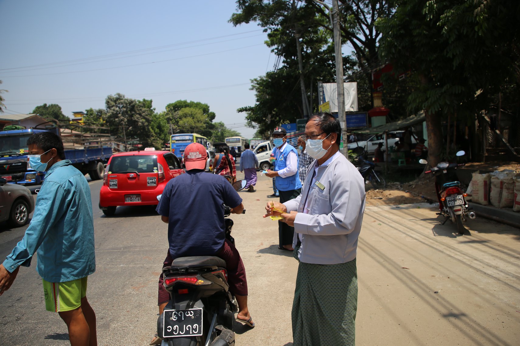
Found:
[{"label": "sunlit paved road and its concrete shoulder beneath the people", "polygon": [[[99,344],[146,345],[157,321],[165,225],[153,207],[122,207],[105,217],[97,209],[102,183],[89,184],[97,271],[88,298]],[[260,216],[270,184],[259,177],[256,192],[241,191],[247,213],[232,216],[257,323],[254,329],[237,324],[238,345],[292,344],[297,261],[278,250],[276,223]],[[0,258],[25,229],[2,227]],[[358,345],[518,344],[520,231],[478,218],[469,228],[472,235],[460,237],[453,225],[439,226],[428,204],[367,208],[357,261]],[[0,297],[1,344],[69,344],[65,324],[45,311],[41,286],[33,267],[22,268]]]}]

